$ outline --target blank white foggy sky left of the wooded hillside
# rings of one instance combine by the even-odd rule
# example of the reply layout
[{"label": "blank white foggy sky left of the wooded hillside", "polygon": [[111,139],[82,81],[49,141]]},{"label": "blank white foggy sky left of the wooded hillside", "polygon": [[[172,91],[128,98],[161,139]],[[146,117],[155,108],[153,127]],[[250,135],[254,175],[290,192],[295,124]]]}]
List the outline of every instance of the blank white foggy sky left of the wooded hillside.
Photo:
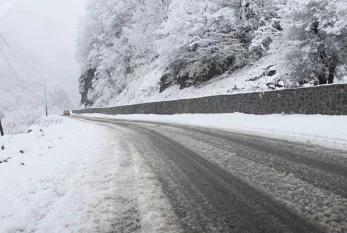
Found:
[{"label": "blank white foggy sky left of the wooded hillside", "polygon": [[[0,0],[0,34],[31,73],[27,77],[11,53],[5,51],[19,76],[37,81],[43,76],[48,84],[65,89],[75,102],[79,101],[79,68],[74,58],[77,23],[86,1]],[[3,43],[0,46],[6,50]],[[11,74],[2,57],[0,71]]]}]

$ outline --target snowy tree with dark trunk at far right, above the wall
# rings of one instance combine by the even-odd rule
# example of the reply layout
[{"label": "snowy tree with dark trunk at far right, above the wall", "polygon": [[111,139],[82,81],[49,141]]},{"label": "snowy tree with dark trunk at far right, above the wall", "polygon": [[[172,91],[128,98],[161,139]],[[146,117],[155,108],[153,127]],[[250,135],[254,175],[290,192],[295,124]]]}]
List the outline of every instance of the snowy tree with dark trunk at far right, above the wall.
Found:
[{"label": "snowy tree with dark trunk at far right, above the wall", "polygon": [[291,14],[288,37],[294,47],[289,61],[293,76],[304,82],[333,83],[338,66],[347,64],[345,0],[307,0]]}]

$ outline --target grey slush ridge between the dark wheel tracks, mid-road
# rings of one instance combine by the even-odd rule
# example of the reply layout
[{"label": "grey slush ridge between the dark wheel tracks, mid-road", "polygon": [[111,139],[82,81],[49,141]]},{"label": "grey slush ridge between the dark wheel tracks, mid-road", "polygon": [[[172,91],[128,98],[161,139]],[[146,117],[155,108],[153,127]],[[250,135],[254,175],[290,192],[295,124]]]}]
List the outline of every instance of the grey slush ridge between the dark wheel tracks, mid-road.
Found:
[{"label": "grey slush ridge between the dark wheel tracks, mid-road", "polygon": [[[242,154],[234,153],[233,149],[221,149],[211,145],[211,143],[201,140],[202,135],[200,134],[193,138],[192,132],[179,133],[177,130],[170,132],[167,127],[160,128],[157,128],[157,131],[163,135],[180,144],[184,143],[186,147],[204,158],[227,168],[250,185],[268,193],[280,203],[325,227],[328,232],[347,231],[346,198],[336,195],[332,191],[317,188],[292,173],[281,172],[276,170],[276,167],[264,166],[244,158]],[[212,138],[210,140],[212,141]],[[247,153],[247,151],[248,148],[243,148],[243,151],[238,152]],[[324,176],[324,173],[322,175]]]}]

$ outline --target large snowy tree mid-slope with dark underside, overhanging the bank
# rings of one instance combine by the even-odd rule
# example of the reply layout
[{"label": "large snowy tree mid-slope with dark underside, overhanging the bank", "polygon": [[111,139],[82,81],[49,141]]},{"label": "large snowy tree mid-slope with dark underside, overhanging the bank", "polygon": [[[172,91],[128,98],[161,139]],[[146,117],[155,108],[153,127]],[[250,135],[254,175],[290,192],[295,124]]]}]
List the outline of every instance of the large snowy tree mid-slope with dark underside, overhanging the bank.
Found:
[{"label": "large snowy tree mid-slope with dark underside, overhanging the bank", "polygon": [[202,83],[245,62],[235,10],[223,1],[173,0],[158,33],[161,90]]}]

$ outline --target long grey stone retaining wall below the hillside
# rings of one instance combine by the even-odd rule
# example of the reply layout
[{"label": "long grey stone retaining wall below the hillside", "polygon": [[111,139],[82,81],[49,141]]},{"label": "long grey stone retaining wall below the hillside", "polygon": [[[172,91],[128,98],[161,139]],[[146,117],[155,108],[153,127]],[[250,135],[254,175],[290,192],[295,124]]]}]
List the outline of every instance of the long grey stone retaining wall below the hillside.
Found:
[{"label": "long grey stone retaining wall below the hillside", "polygon": [[347,115],[347,84],[73,111],[76,114],[102,113],[111,115],[233,112],[258,115],[276,113]]}]

